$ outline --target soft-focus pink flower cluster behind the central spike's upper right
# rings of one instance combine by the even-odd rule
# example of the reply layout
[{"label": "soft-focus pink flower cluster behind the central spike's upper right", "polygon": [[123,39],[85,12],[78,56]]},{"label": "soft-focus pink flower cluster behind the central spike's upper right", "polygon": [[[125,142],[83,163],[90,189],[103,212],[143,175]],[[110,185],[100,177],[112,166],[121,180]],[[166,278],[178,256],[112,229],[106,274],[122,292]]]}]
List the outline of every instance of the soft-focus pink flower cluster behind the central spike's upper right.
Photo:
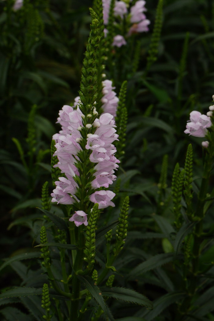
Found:
[{"label": "soft-focus pink flower cluster behind the central spike's upper right", "polygon": [[115,87],[112,87],[111,80],[106,79],[103,81],[103,98],[101,100],[103,103],[103,112],[109,113],[115,118],[119,99],[113,89],[115,89]]}]

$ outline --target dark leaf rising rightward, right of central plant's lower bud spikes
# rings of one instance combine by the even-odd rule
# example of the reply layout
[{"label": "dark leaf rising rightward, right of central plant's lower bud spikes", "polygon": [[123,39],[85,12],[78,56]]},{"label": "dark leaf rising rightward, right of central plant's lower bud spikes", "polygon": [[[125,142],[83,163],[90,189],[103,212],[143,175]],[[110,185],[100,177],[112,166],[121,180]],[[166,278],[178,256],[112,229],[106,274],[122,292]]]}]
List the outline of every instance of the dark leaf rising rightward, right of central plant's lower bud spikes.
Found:
[{"label": "dark leaf rising rightward, right of central plant's lower bud spikes", "polygon": [[130,275],[141,275],[147,271],[153,270],[173,260],[174,253],[157,254],[150,257],[148,260],[137,265]]}]

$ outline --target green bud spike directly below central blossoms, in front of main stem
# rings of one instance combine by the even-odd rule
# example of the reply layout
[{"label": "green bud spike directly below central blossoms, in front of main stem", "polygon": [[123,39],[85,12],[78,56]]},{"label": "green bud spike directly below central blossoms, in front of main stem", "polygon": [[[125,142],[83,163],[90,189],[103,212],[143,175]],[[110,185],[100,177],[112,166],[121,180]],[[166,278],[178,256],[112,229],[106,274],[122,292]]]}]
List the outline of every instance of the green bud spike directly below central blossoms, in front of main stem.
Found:
[{"label": "green bud spike directly below central blossoms, in front of main stem", "polygon": [[98,204],[96,203],[92,209],[91,216],[88,220],[86,228],[86,243],[84,249],[84,260],[88,262],[87,268],[92,269],[95,260],[95,225],[98,215]]}]

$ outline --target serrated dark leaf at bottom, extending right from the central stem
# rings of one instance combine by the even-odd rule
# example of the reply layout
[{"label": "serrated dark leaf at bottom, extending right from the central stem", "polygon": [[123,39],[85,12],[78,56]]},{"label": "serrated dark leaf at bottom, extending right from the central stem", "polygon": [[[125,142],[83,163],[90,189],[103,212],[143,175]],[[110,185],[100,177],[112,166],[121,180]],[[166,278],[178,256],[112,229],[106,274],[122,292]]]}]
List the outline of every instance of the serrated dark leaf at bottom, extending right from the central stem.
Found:
[{"label": "serrated dark leaf at bottom, extending right from the central stem", "polygon": [[102,287],[101,288],[102,294],[105,297],[115,298],[124,300],[127,302],[136,303],[139,305],[144,305],[147,308],[152,309],[152,302],[147,299],[143,294],[140,294],[134,290],[126,289],[126,288],[119,288],[119,287]]}]

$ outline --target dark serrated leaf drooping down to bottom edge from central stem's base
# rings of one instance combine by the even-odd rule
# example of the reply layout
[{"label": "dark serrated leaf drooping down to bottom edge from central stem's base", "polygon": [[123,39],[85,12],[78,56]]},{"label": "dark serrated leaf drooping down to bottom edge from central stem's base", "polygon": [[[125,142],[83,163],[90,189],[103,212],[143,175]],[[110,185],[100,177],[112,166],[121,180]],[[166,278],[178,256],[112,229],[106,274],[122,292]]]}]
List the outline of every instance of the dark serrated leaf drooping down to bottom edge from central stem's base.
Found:
[{"label": "dark serrated leaf drooping down to bottom edge from central stem's base", "polygon": [[96,300],[96,302],[100,305],[106,316],[106,320],[108,320],[105,302],[100,289],[95,285],[94,281],[89,276],[78,275],[78,278],[86,286],[87,290],[89,291],[89,293],[91,293],[92,297]]}]

